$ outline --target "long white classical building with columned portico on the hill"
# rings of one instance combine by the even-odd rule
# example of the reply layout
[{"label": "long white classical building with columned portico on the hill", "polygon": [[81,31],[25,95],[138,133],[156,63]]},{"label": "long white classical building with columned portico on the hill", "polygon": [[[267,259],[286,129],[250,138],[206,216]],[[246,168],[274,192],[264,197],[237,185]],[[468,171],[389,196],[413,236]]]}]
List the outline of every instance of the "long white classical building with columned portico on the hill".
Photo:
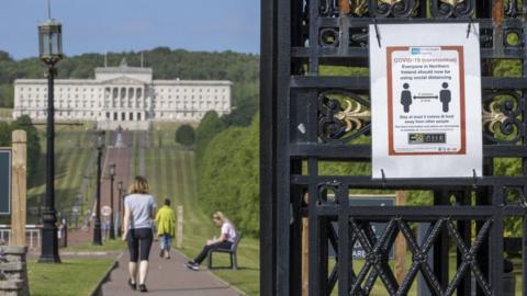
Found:
[{"label": "long white classical building with columned portico on the hill", "polygon": [[[147,129],[152,122],[199,122],[214,110],[231,113],[231,81],[153,80],[152,68],[96,68],[96,79],[55,80],[55,118],[97,122],[101,129]],[[45,121],[46,79],[14,81],[13,118]]]}]

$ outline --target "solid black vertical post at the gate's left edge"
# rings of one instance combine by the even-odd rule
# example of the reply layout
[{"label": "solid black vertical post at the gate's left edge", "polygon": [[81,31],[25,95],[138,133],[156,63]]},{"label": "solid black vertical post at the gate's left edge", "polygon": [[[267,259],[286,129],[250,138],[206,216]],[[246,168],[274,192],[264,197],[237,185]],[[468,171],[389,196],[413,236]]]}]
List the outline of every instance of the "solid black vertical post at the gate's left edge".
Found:
[{"label": "solid black vertical post at the gate's left edge", "polygon": [[277,0],[260,1],[260,294],[277,295]]}]

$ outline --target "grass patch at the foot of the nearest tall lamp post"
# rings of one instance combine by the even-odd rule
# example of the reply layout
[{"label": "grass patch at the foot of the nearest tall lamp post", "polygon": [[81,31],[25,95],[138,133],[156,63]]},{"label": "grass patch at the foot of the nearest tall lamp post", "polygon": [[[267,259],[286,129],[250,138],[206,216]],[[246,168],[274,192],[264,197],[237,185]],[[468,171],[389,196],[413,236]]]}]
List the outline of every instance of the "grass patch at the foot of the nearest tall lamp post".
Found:
[{"label": "grass patch at the foot of the nearest tall lamp post", "polygon": [[111,259],[63,260],[61,264],[27,262],[32,296],[90,295],[104,273],[113,264]]}]

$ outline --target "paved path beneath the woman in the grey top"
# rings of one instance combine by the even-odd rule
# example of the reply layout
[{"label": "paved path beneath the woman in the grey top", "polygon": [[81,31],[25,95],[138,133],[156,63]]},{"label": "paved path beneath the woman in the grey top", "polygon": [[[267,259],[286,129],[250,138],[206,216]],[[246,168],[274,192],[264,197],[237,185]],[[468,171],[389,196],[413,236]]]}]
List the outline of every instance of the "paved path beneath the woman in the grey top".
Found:
[{"label": "paved path beneath the woman in the grey top", "polygon": [[[206,269],[198,272],[183,266],[188,260],[178,251],[171,251],[171,259],[159,258],[159,247],[154,242],[150,252],[150,266],[146,286],[147,294],[132,292],[127,285],[128,254],[119,260],[119,266],[110,275],[110,281],[102,286],[102,295],[176,295],[176,296],[237,296],[244,295]],[[203,264],[202,264],[203,265]]]}]

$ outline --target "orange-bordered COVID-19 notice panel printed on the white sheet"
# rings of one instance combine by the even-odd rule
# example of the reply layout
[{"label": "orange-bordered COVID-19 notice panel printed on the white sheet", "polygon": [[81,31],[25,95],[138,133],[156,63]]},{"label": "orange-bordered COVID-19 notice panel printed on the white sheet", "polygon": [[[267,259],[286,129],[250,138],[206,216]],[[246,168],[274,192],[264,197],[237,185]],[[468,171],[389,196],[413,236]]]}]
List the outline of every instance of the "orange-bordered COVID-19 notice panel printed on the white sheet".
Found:
[{"label": "orange-bordered COVID-19 notice panel printed on the white sheet", "polygon": [[462,46],[388,47],[390,155],[466,152]]}]

